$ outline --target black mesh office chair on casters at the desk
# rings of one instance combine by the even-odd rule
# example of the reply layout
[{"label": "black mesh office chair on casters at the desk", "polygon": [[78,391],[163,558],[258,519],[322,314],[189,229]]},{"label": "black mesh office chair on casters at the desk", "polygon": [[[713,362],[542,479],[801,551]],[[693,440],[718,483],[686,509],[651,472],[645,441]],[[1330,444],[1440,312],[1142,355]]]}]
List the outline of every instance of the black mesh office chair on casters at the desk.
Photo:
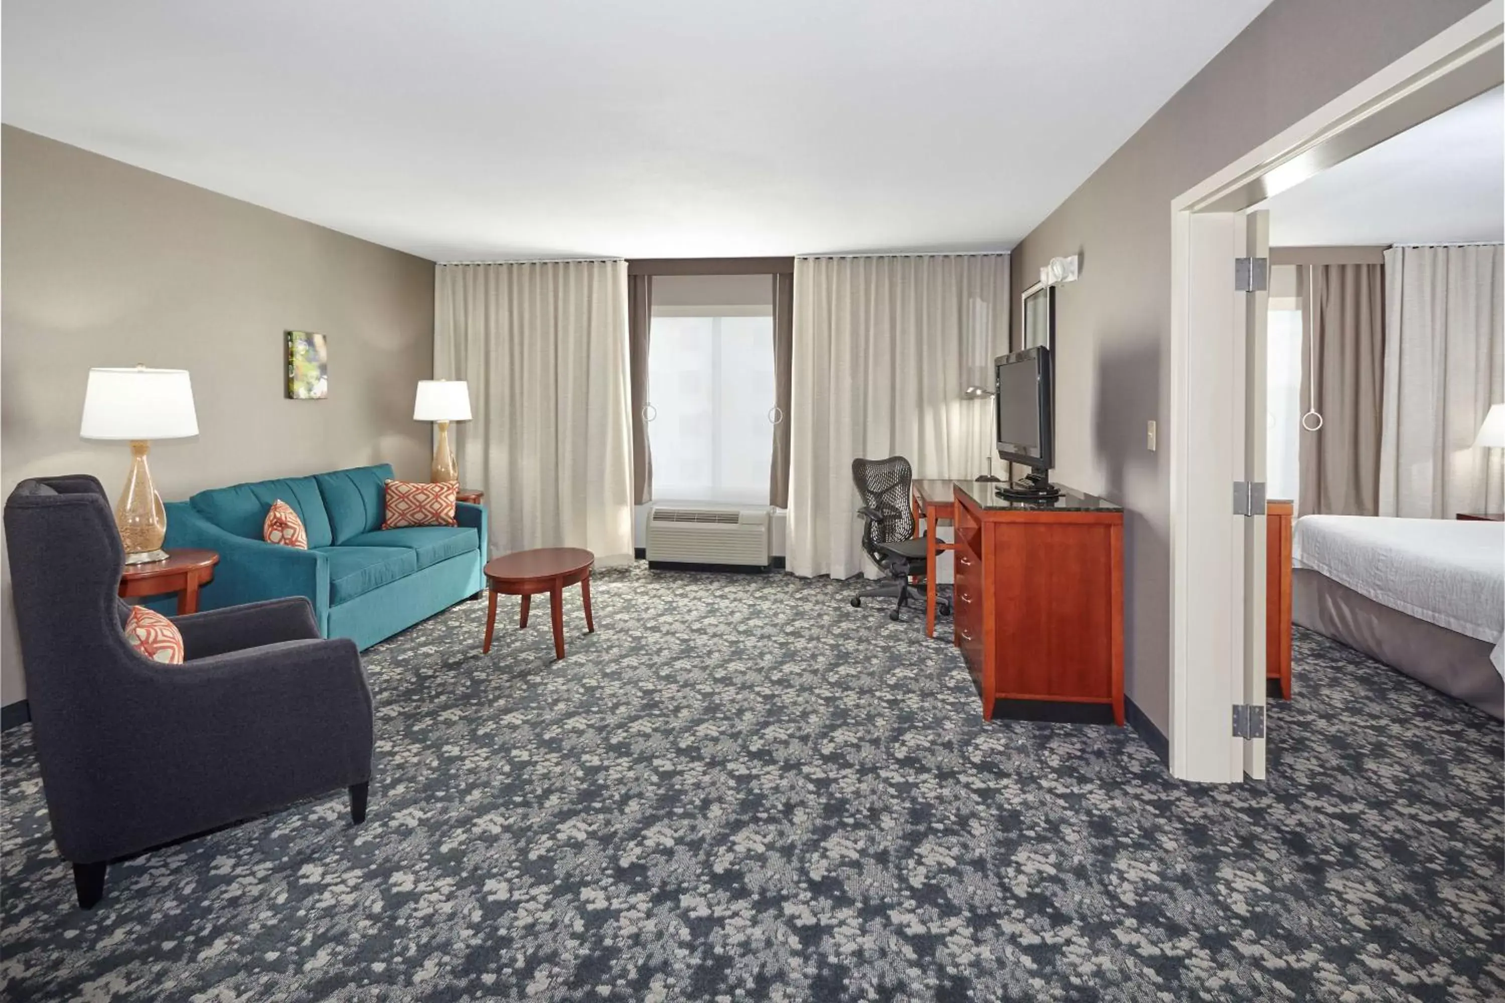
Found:
[{"label": "black mesh office chair on casters at the desk", "polygon": [[[858,592],[852,597],[852,605],[861,606],[864,598],[897,597],[898,605],[888,614],[889,620],[898,620],[900,611],[915,594],[909,579],[926,574],[926,538],[915,537],[915,514],[909,507],[912,478],[909,460],[901,456],[852,460],[852,481],[862,496],[858,514],[867,520],[862,525],[862,550],[889,577],[898,579],[894,585]],[[948,615],[951,605],[941,600],[936,609]]]}]

